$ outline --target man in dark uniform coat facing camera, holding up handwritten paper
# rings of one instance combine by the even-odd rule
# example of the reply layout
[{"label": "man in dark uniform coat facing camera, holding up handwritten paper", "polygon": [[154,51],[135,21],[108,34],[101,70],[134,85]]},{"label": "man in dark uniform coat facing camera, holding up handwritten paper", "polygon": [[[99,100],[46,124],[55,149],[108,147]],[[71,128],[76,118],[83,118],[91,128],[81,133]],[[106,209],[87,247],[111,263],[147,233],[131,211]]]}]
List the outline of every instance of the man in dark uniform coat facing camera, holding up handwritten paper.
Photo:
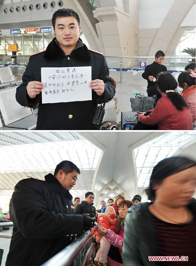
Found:
[{"label": "man in dark uniform coat facing camera, holding up handwritten paper", "polygon": [[[22,84],[16,90],[17,102],[25,107],[38,106],[37,129],[99,129],[92,124],[97,103],[111,100],[113,81],[103,54],[86,47],[80,35],[78,14],[59,9],[53,14],[55,38],[45,51],[30,57]],[[92,67],[92,100],[67,103],[42,103],[41,67]]]}]

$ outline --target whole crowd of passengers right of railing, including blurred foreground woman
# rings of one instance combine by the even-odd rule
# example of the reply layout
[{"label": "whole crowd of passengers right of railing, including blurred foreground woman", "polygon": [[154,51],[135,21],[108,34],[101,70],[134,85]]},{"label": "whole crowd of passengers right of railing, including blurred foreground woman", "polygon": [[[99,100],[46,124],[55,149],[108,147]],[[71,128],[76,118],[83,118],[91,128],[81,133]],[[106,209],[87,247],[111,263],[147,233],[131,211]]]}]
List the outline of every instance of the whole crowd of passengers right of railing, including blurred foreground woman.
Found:
[{"label": "whole crowd of passengers right of railing, including blurred foreground woman", "polygon": [[[196,255],[196,163],[186,157],[170,157],[154,168],[146,189],[149,202],[135,195],[109,199],[101,208],[93,206],[94,194],[87,192],[80,203],[74,199],[74,214],[97,217],[94,239],[98,251],[93,266],[176,265],[176,261],[150,262],[149,256],[187,256],[195,265]],[[75,204],[76,200],[78,203]],[[126,219],[125,219],[126,218]],[[192,239],[190,241],[190,239]]]}]

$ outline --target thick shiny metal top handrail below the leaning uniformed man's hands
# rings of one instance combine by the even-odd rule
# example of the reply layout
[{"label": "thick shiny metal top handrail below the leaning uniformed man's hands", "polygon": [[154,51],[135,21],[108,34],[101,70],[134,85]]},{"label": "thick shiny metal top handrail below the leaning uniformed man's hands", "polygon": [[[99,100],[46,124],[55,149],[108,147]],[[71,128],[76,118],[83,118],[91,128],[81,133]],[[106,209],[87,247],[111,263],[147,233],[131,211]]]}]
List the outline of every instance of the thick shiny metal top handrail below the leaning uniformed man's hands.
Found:
[{"label": "thick shiny metal top handrail below the leaning uniformed man's hands", "polygon": [[42,266],[70,266],[78,253],[83,249],[86,243],[89,241],[92,235],[97,231],[97,226],[89,231],[86,231],[73,243],[61,250],[54,257],[45,262]]}]

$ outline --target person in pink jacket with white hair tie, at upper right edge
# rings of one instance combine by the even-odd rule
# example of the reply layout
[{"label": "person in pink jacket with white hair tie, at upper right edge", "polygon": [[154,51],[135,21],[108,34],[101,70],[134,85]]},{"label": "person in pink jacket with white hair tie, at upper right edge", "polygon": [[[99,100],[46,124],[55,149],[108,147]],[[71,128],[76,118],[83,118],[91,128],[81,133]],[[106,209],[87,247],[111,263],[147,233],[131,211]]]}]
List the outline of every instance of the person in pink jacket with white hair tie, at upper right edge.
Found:
[{"label": "person in pink jacket with white hair tie, at upper right edge", "polygon": [[188,106],[191,110],[193,123],[195,123],[195,116],[196,116],[195,77],[196,74],[194,72],[189,72],[189,71],[184,71],[180,73],[178,76],[178,85],[183,89],[181,94],[188,103]]}]

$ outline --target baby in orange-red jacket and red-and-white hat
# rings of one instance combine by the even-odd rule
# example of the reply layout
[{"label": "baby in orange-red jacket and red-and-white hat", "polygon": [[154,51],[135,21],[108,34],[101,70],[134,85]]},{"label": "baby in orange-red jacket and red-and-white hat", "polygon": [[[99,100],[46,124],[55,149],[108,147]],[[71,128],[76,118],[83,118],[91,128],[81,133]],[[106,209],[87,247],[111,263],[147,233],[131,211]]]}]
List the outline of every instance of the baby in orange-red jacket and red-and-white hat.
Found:
[{"label": "baby in orange-red jacket and red-and-white hat", "polygon": [[[108,206],[105,213],[98,213],[98,223],[101,227],[111,229],[115,233],[118,233],[117,228],[117,207],[115,205]],[[94,259],[94,265],[105,266],[107,265],[107,255],[110,250],[110,243],[103,237],[100,236],[98,232],[95,233],[96,241],[100,242],[100,248],[97,252],[97,255]]]}]

